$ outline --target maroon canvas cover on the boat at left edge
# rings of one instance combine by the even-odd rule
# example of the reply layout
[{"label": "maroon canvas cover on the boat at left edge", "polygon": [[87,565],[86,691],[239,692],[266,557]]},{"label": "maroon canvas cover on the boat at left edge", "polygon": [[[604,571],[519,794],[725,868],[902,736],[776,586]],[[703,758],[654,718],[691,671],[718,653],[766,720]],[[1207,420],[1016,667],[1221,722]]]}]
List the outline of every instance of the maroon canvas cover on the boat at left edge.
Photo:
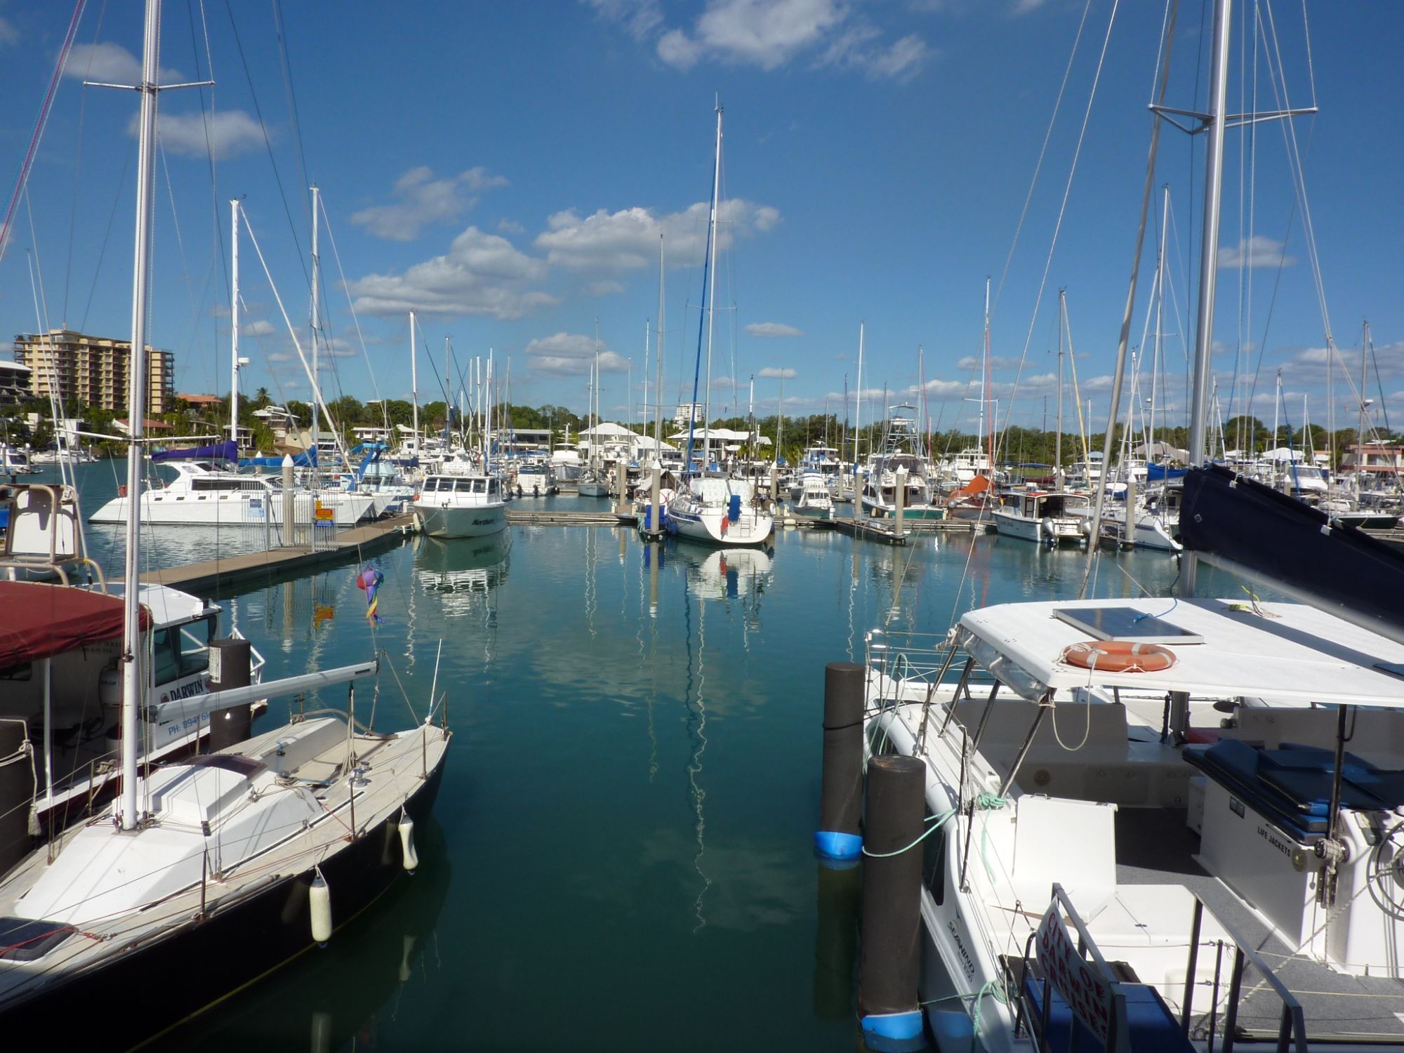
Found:
[{"label": "maroon canvas cover on the boat at left edge", "polygon": [[[142,608],[142,629],[152,623]],[[122,636],[121,597],[72,585],[0,581],[0,670]]]}]

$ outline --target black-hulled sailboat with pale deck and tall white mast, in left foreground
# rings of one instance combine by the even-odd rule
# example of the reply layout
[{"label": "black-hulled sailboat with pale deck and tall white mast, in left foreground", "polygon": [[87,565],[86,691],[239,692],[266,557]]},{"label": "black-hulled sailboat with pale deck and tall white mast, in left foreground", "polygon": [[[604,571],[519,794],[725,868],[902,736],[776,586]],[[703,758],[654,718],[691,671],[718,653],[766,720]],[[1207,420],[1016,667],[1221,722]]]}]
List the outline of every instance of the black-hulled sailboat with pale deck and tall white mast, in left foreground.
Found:
[{"label": "black-hulled sailboat with pale deck and tall white mast, in left foreground", "polygon": [[[132,347],[147,337],[159,42],[160,6],[147,0]],[[126,524],[121,793],[0,875],[0,1019],[29,1036],[62,1022],[63,1040],[80,1047],[149,1039],[334,939],[337,924],[418,865],[414,823],[428,817],[449,743],[446,726],[431,719],[390,734],[359,730],[351,687],[347,719],[310,716],[139,772],[145,372],[145,357],[133,355],[128,491],[138,500]],[[192,703],[216,720],[247,715],[256,698],[352,684],[378,667],[234,687],[247,682],[247,667],[237,649],[220,654],[219,689]],[[122,1011],[91,1011],[97,1005]]]}]

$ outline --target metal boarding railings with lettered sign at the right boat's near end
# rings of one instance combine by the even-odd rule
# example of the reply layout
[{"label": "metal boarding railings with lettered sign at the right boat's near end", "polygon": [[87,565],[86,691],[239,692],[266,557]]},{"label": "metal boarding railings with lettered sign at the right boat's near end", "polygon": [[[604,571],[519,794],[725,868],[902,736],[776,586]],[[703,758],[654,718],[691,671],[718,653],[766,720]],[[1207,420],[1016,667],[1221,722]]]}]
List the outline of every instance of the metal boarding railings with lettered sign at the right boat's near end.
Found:
[{"label": "metal boarding railings with lettered sign at the right boat's near end", "polygon": [[[1213,980],[1206,981],[1206,986],[1212,987],[1210,1007],[1206,1014],[1200,1014],[1196,1026],[1193,994],[1199,984],[1198,967],[1205,911],[1223,932],[1223,936],[1214,941],[1205,941],[1205,946],[1213,946],[1220,960],[1231,946],[1233,960],[1227,980],[1216,962]],[[1064,917],[1067,922],[1063,921]],[[1075,945],[1067,938],[1068,922],[1077,934]],[[1035,946],[1038,948],[1036,953]],[[1007,965],[1012,969],[1014,962],[1007,962]],[[1011,987],[1018,991],[1014,1019],[1016,1036],[1028,1035],[1033,1039],[1036,1049],[1052,1050],[1053,1033],[1066,1028],[1070,1049],[1077,1045],[1077,1032],[1080,1031],[1090,1038],[1102,1039],[1102,1049],[1106,1053],[1126,1053],[1132,1049],[1129,995],[1137,990],[1146,990],[1148,986],[1143,984],[1125,963],[1109,965],[1106,962],[1061,885],[1053,885],[1049,913],[1025,942],[1024,958],[1018,965],[1018,976],[1009,977]],[[1233,1053],[1234,1042],[1248,1038],[1247,1032],[1238,1026],[1238,1008],[1244,1000],[1244,973],[1250,966],[1258,972],[1261,981],[1248,994],[1257,994],[1266,988],[1282,1002],[1275,1049],[1278,1053],[1289,1053],[1289,1050],[1307,1053],[1306,1015],[1302,1011],[1302,1004],[1258,952],[1198,894],[1191,922],[1189,960],[1185,966],[1185,998],[1179,1016],[1175,1018],[1158,993],[1150,1001],[1136,998],[1139,1005],[1136,1031],[1141,1032],[1150,1026],[1160,1032],[1161,1039],[1178,1031],[1182,1047],[1186,1050],[1206,1043],[1207,1049]],[[1063,1011],[1068,1014],[1064,1022],[1057,1026],[1053,1024],[1054,993],[1064,1004]],[[1146,1009],[1150,1005],[1160,1007],[1161,1014],[1147,1014]],[[1163,1019],[1157,1019],[1160,1015]],[[1147,1021],[1153,1022],[1147,1024]],[[1063,1036],[1060,1035],[1060,1038]],[[1140,1035],[1140,1038],[1144,1039],[1146,1035]],[[1268,1036],[1252,1035],[1251,1038],[1254,1045],[1258,1045]]]}]

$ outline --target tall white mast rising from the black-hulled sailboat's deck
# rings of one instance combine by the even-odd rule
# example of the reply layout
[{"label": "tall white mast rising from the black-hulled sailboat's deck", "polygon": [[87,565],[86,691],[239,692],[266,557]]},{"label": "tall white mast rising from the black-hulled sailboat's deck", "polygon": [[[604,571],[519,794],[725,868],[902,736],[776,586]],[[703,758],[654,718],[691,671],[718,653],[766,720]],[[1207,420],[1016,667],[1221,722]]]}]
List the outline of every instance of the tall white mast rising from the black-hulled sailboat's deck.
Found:
[{"label": "tall white mast rising from the black-hulled sailboat's deck", "polygon": [[136,244],[132,251],[132,364],[128,371],[126,416],[131,445],[126,448],[126,567],[124,574],[122,618],[122,830],[140,823],[136,793],[136,710],[146,687],[142,661],[142,439],[146,434],[146,302],[152,270],[152,195],[154,192],[156,93],[160,62],[160,3],[146,4],[146,29],[142,51],[140,124],[136,154]]}]

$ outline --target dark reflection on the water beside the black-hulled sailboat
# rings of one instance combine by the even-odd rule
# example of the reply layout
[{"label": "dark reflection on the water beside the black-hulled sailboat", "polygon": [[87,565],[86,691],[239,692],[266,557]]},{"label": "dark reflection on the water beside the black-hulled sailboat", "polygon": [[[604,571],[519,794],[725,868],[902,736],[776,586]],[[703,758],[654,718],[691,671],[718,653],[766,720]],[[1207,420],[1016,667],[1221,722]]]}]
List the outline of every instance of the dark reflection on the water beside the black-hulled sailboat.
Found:
[{"label": "dark reflection on the water beside the black-hulled sailboat", "polygon": [[327,948],[149,1049],[396,1049],[434,1045],[432,1007],[448,976],[435,934],[452,866],[442,827],[416,831],[420,868],[397,880]]}]

